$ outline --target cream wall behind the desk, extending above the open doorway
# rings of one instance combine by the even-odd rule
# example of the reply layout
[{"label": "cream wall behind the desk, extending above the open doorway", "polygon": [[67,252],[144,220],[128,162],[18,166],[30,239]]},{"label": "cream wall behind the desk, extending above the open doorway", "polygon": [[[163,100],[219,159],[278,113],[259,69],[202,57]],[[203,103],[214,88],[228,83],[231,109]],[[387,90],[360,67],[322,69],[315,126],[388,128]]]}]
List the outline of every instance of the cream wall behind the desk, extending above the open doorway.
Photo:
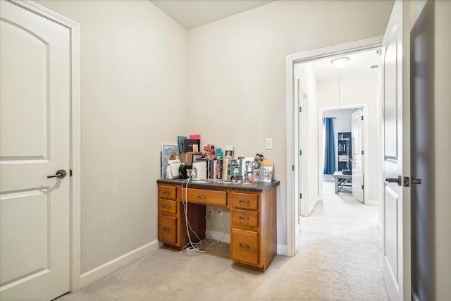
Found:
[{"label": "cream wall behind the desk, extending above the open doorway", "polygon": [[[281,184],[280,245],[287,243],[286,56],[383,35],[392,6],[393,1],[275,1],[189,32],[187,127],[202,133],[206,143],[233,144],[237,154],[264,152],[274,160]],[[273,138],[273,150],[264,149],[266,137]],[[310,153],[318,154],[317,147]],[[312,164],[317,168],[318,160]]]}]

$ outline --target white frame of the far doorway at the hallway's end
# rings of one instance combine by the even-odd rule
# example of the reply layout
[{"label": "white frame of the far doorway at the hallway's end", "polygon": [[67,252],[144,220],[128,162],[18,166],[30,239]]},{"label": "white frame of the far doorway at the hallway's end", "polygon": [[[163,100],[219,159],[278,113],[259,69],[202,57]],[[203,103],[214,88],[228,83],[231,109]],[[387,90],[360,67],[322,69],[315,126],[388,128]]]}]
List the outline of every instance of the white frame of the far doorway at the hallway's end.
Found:
[{"label": "white frame of the far doorway at the hallway's end", "polygon": [[[321,106],[318,108],[318,152],[321,152],[323,148],[323,142],[320,139],[323,137],[323,134],[321,133],[321,127],[322,127],[322,120],[323,113],[326,111],[331,110],[341,110],[341,109],[362,109],[362,116],[364,116],[363,120],[363,150],[364,150],[364,159],[363,159],[363,173],[364,173],[364,202],[363,204],[371,204],[371,205],[377,205],[378,202],[374,200],[369,200],[369,171],[368,171],[368,164],[369,164],[369,125],[368,125],[368,105],[367,104],[346,104],[346,105],[340,105],[340,108],[338,106]],[[378,133],[376,133],[378,134]],[[336,137],[335,137],[336,138]],[[375,149],[374,152],[378,154],[378,149]],[[319,185],[319,199],[323,199],[323,166],[321,166],[320,156],[318,156],[318,185]],[[379,171],[381,173],[381,171]],[[379,188],[379,186],[377,186]]]}]

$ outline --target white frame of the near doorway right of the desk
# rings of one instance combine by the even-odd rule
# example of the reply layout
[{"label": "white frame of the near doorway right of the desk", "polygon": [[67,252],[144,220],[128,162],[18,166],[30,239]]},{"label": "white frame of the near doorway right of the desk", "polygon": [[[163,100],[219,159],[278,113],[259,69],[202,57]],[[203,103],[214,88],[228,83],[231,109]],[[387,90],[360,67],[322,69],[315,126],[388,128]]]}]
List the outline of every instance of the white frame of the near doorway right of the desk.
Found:
[{"label": "white frame of the near doorway right of the desk", "polygon": [[[295,114],[297,114],[297,108],[295,109],[296,99],[295,99],[295,64],[296,63],[307,63],[309,61],[316,61],[319,59],[326,59],[330,56],[340,56],[344,54],[350,54],[353,52],[365,51],[370,49],[376,49],[382,46],[383,36],[372,37],[369,39],[362,39],[359,41],[354,41],[350,43],[335,45],[332,47],[326,47],[321,49],[316,49],[312,51],[305,51],[298,54],[291,54],[287,56],[286,59],[286,90],[287,90],[287,99],[286,99],[286,131],[287,131],[287,145],[286,145],[286,177],[287,177],[287,199],[286,199],[286,210],[287,210],[287,255],[294,256],[295,255],[295,247],[296,247],[296,236],[297,233],[295,231],[296,228],[296,219],[297,211],[295,211],[295,202],[298,201],[298,195],[296,193],[296,183],[295,183],[295,175],[299,174],[299,168],[297,164],[297,156],[299,153],[299,149],[297,149],[297,143],[295,143],[295,137],[298,137],[299,133],[297,133],[297,128],[295,127]],[[307,99],[308,102],[308,99]],[[308,125],[304,129],[305,135],[309,133]],[[307,136],[305,136],[307,137]],[[304,155],[308,156],[308,149],[306,148],[304,151]],[[319,162],[318,162],[319,165]],[[304,178],[307,177],[307,171],[302,171],[302,176]],[[317,179],[319,180],[319,179]],[[317,185],[316,188],[319,188]],[[318,189],[309,189],[307,192],[318,191]],[[305,199],[310,199],[310,195],[302,195]],[[314,196],[318,198],[319,196]],[[316,199],[317,201],[318,199]]]}]

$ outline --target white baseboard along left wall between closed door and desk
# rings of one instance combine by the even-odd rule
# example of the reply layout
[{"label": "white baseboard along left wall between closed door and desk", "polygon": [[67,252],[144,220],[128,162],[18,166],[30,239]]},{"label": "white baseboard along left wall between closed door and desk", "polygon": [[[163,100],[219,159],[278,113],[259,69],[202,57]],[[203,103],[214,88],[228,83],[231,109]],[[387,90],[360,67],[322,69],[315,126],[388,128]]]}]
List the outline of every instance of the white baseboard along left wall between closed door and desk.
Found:
[{"label": "white baseboard along left wall between closed door and desk", "polygon": [[101,266],[97,266],[96,268],[81,274],[80,287],[78,289],[88,285],[89,283],[93,283],[94,281],[97,281],[100,278],[113,273],[113,271],[117,271],[118,269],[131,264],[132,262],[136,262],[138,259],[141,259],[147,254],[158,250],[159,247],[159,241],[154,240],[146,245],[143,245],[142,247],[138,247],[135,250],[125,253],[113,260],[110,260],[109,262],[106,262],[105,264],[102,264]]}]

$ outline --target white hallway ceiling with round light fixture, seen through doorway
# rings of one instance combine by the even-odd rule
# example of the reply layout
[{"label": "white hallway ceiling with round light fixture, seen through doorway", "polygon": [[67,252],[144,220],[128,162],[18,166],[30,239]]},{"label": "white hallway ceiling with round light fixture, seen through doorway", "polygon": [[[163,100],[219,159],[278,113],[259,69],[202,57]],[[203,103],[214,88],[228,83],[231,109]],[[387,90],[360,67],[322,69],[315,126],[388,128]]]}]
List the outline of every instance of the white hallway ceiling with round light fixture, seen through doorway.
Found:
[{"label": "white hallway ceiling with round light fixture, seen through doorway", "polygon": [[[350,78],[378,72],[378,68],[371,68],[371,66],[379,66],[381,63],[381,56],[377,54],[376,49],[356,54],[347,54],[345,56],[349,57],[350,60],[346,66],[340,68],[340,78]],[[313,68],[316,80],[338,78],[338,68],[335,68],[330,63],[335,57],[338,56],[309,63]]]}]

